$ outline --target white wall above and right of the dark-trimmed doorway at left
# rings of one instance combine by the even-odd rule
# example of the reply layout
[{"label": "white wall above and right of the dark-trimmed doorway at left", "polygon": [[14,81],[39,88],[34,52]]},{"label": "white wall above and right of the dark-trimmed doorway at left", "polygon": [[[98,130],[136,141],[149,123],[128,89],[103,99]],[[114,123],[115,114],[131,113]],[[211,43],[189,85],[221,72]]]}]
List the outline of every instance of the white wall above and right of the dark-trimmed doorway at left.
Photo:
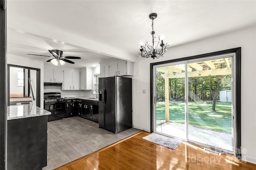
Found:
[{"label": "white wall above and right of the dark-trimmed doorway at left", "polygon": [[10,55],[7,54],[7,64],[14,64],[18,66],[26,66],[26,67],[32,67],[32,68],[39,68],[41,71],[41,82],[40,82],[40,105],[41,108],[44,108],[44,62],[28,59],[25,57],[20,57],[16,55]]}]

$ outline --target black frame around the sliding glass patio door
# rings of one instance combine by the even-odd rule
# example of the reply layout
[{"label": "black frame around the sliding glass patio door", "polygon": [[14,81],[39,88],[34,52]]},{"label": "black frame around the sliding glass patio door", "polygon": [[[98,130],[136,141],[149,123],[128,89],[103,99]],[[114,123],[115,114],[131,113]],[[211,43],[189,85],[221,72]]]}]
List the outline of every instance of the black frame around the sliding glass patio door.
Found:
[{"label": "black frame around the sliding glass patio door", "polygon": [[[202,60],[203,58],[205,59],[210,59],[211,57],[216,57],[219,55],[227,55],[230,53],[234,53],[235,59],[233,59],[232,66],[235,68],[232,68],[232,74],[234,74],[234,79],[235,83],[232,83],[233,86],[233,104],[234,106],[232,107],[232,111],[234,113],[235,119],[233,120],[235,125],[233,125],[234,129],[234,135],[235,138],[233,139],[234,141],[234,153],[228,153],[228,154],[234,154],[237,158],[241,158],[241,47],[234,48],[234,49],[228,49],[228,50],[223,50],[223,51],[217,51],[213,53],[207,53],[203,55],[196,55],[196,56],[191,56],[191,57],[185,57],[181,59],[173,59],[173,60],[168,60],[168,61],[162,61],[162,62],[157,62],[157,63],[150,63],[150,132],[154,132],[154,111],[155,111],[155,104],[156,104],[156,98],[154,94],[154,74],[156,71],[156,67],[159,67],[160,65],[163,64],[172,64],[172,63],[191,63],[196,60]],[[209,58],[208,58],[209,57]],[[234,72],[235,71],[235,72]],[[187,76],[186,78],[187,79]],[[185,80],[186,82],[188,80]],[[187,89],[186,89],[187,92]],[[187,97],[187,95],[186,95]],[[185,98],[186,99],[186,98]],[[186,107],[187,105],[187,100],[186,102]],[[186,111],[188,108],[186,108]],[[188,119],[186,118],[186,122]],[[188,126],[186,126],[188,128]],[[186,129],[187,131],[188,129]],[[188,139],[188,133],[186,139]],[[187,140],[186,140],[187,141]]]}]

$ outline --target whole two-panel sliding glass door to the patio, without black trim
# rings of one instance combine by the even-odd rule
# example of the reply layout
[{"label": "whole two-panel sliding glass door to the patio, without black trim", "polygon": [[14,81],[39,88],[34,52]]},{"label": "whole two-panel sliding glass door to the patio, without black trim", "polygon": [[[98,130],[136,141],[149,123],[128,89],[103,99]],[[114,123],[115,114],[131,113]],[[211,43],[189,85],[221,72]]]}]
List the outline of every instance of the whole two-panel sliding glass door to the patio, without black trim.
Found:
[{"label": "whole two-panel sliding glass door to the patio, without black trim", "polygon": [[154,66],[154,132],[234,154],[234,57]]}]

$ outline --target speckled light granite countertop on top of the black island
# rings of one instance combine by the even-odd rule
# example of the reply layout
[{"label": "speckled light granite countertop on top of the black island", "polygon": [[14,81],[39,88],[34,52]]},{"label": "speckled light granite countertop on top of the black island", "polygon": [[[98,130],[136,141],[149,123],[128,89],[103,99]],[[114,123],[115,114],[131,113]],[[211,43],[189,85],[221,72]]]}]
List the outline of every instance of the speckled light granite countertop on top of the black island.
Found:
[{"label": "speckled light granite countertop on top of the black island", "polygon": [[22,119],[27,117],[36,117],[50,115],[51,112],[35,105],[20,105],[7,107],[7,120]]}]

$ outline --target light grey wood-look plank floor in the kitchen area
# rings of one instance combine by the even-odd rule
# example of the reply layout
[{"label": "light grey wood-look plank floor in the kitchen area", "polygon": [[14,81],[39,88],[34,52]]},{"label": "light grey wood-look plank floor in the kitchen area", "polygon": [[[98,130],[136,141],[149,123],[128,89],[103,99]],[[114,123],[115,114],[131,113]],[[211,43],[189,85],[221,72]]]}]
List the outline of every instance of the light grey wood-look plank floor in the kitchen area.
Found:
[{"label": "light grey wood-look plank floor in the kitchen area", "polygon": [[96,150],[129,137],[140,129],[131,128],[118,134],[99,128],[98,123],[82,117],[48,122],[48,159],[42,170],[52,170]]}]

